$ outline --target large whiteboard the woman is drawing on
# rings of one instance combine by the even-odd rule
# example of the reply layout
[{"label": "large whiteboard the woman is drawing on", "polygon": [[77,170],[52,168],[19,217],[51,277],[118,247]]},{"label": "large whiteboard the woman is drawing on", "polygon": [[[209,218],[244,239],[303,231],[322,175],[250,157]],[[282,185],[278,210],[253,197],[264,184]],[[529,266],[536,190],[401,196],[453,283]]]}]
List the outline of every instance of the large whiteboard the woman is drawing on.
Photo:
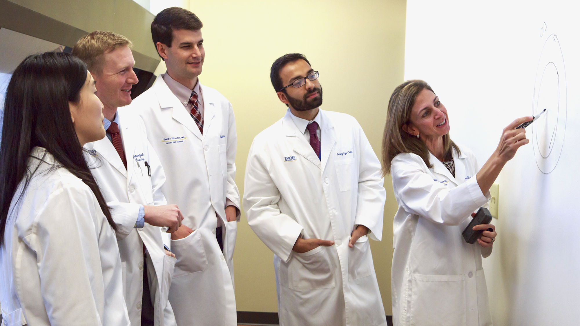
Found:
[{"label": "large whiteboard the woman is drawing on", "polygon": [[451,138],[480,166],[507,124],[546,108],[497,180],[498,237],[484,259],[494,325],[579,323],[577,3],[407,1],[405,79],[433,87]]}]

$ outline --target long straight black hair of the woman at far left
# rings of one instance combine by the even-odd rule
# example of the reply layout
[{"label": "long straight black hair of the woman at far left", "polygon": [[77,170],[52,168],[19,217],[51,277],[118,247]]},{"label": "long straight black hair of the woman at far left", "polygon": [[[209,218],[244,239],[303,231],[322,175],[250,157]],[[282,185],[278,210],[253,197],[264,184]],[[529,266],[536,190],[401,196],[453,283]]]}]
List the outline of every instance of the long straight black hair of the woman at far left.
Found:
[{"label": "long straight black hair of the woman at far left", "polygon": [[68,105],[81,100],[86,77],[81,59],[59,52],[28,56],[14,70],[6,90],[0,143],[0,245],[17,187],[24,180],[26,190],[34,174],[27,163],[35,146],[53,155],[55,167],[66,168],[89,186],[108,223],[117,230],[86,164]]}]

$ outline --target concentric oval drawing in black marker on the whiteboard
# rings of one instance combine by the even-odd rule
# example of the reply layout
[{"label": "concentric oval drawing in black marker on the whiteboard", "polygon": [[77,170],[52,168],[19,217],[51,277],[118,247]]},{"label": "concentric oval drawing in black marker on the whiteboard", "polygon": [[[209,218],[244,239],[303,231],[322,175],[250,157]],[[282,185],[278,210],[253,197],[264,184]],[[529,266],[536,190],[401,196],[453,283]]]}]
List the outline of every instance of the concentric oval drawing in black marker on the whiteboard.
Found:
[{"label": "concentric oval drawing in black marker on the whiteboard", "polygon": [[531,138],[538,169],[550,173],[560,160],[567,111],[564,56],[556,34],[546,39],[536,70],[533,115],[543,109],[546,113],[532,124]]}]

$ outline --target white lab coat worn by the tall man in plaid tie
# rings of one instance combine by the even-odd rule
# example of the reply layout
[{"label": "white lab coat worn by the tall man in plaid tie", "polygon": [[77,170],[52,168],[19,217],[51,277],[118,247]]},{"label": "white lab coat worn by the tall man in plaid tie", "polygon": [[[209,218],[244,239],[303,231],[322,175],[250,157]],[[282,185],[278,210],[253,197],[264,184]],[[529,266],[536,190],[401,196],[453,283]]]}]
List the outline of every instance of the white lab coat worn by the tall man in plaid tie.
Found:
[{"label": "white lab coat worn by the tall man in plaid tie", "polygon": [[[167,178],[162,191],[183,213],[188,237],[172,240],[177,257],[169,300],[177,325],[236,325],[233,253],[236,222],[227,222],[226,197],[240,207],[235,185],[234,113],[217,90],[200,86],[204,133],[162,78],[129,106],[145,122],[147,137]],[[216,213],[225,227],[223,253]],[[239,216],[238,216],[239,219]]]}]

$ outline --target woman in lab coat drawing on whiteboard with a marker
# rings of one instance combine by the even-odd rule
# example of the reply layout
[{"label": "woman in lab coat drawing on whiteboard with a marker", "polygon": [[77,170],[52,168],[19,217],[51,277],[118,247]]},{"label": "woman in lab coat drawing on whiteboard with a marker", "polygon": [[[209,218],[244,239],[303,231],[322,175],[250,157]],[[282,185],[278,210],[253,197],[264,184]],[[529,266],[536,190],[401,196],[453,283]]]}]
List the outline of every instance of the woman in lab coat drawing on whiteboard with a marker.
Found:
[{"label": "woman in lab coat drawing on whiteboard with a marker", "polygon": [[[478,169],[472,151],[449,138],[445,106],[424,81],[397,86],[389,100],[383,135],[383,174],[390,173],[394,216],[392,300],[394,325],[491,325],[481,256],[491,254],[495,226],[475,244],[462,231],[487,205],[489,190],[517,149],[529,142],[503,129],[498,147]],[[491,229],[492,231],[488,231]]]}]

